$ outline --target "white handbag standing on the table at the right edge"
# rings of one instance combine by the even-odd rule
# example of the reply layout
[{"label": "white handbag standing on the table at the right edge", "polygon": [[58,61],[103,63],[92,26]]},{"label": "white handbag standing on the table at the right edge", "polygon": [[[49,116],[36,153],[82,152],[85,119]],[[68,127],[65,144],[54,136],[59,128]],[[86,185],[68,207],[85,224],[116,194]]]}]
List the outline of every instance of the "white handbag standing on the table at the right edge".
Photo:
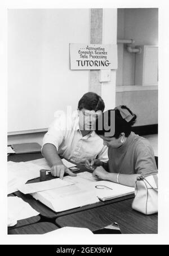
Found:
[{"label": "white handbag standing on the table at the right edge", "polygon": [[137,177],[132,208],[146,215],[158,212],[158,170]]}]

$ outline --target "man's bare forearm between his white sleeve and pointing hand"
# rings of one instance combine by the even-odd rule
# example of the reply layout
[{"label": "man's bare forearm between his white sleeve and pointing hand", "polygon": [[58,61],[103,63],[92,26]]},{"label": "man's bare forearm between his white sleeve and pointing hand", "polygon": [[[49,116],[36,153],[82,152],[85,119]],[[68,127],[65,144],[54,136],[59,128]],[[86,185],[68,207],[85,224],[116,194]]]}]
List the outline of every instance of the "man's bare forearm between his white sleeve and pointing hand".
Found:
[{"label": "man's bare forearm between his white sleeve and pointing hand", "polygon": [[42,148],[42,154],[47,160],[50,167],[55,164],[63,164],[58,152],[56,150],[56,147],[53,144],[47,143]]}]

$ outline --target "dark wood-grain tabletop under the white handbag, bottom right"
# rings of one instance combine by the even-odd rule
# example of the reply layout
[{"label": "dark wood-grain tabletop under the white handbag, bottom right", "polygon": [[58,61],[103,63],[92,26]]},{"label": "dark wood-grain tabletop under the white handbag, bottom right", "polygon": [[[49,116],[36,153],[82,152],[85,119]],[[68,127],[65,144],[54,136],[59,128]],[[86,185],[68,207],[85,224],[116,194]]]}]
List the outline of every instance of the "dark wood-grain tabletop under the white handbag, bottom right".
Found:
[{"label": "dark wood-grain tabletop under the white handbag, bottom right", "polygon": [[143,215],[132,210],[132,199],[107,204],[98,208],[76,212],[56,218],[58,227],[81,227],[91,231],[117,222],[122,234],[156,234],[158,233],[158,216]]}]

